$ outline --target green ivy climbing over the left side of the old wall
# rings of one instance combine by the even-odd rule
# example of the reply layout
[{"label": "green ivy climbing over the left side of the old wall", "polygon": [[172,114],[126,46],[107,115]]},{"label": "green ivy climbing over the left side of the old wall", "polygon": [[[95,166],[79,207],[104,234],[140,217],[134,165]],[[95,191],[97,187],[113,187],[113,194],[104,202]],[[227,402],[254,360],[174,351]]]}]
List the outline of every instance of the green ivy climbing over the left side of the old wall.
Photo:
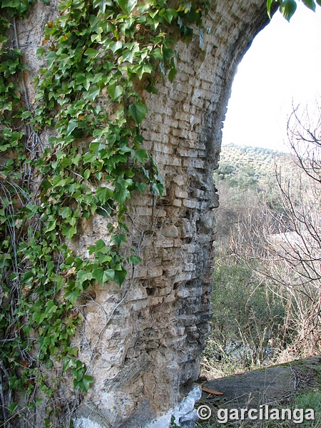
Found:
[{"label": "green ivy climbing over the left side of the old wall", "polygon": [[[37,50],[44,62],[36,101],[24,87],[16,20],[32,1],[1,0],[0,34],[0,399],[4,420],[21,415],[14,392],[29,409],[54,384],[42,367],[62,362],[73,387],[87,392],[93,378],[72,345],[81,317],[78,297],[93,283],[122,285],[126,211],[133,192],[163,193],[161,175],[143,149],[141,94],[157,93],[161,76],[173,81],[175,44],[188,43],[207,4],[183,0],[64,0],[46,24]],[[47,3],[47,1],[44,1]],[[191,24],[193,24],[191,26]],[[202,31],[200,31],[200,39]],[[47,143],[40,136],[48,133]],[[109,219],[110,242],[98,240],[88,258],[69,240],[81,221]],[[10,416],[11,414],[11,416]],[[49,424],[49,421],[46,421]]]}]

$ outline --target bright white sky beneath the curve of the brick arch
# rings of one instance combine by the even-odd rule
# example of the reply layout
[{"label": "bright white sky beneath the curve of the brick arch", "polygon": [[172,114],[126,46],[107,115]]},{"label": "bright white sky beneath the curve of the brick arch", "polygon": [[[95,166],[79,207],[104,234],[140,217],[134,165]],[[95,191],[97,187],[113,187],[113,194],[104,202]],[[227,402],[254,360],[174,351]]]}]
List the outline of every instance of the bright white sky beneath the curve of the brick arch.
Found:
[{"label": "bright white sky beneath the curve of the brick arch", "polygon": [[320,96],[321,7],[314,13],[297,1],[290,23],[277,11],[239,64],[223,144],[286,150],[292,104],[316,111]]}]

